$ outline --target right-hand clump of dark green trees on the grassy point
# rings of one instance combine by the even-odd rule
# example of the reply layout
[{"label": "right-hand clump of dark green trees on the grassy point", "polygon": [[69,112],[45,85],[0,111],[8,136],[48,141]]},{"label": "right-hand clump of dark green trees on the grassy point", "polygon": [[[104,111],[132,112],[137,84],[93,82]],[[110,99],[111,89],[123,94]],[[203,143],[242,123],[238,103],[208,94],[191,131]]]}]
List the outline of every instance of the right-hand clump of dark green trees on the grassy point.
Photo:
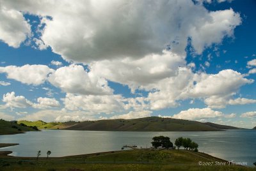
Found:
[{"label": "right-hand clump of dark green trees on the grassy point", "polygon": [[193,142],[190,138],[182,138],[179,137],[175,140],[174,143],[178,149],[180,149],[180,147],[184,147],[184,149],[186,150],[193,150],[193,151],[198,151],[198,144],[196,144],[195,142]]}]

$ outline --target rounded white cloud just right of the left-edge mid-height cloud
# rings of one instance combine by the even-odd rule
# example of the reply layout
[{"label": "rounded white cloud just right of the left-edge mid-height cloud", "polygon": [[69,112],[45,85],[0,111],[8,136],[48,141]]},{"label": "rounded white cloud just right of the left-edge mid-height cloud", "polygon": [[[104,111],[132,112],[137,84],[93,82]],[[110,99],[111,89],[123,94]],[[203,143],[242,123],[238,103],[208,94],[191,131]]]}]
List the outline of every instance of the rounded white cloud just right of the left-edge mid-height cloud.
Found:
[{"label": "rounded white cloud just right of the left-edge mid-height cloud", "polygon": [[71,64],[58,68],[49,75],[49,82],[60,87],[66,93],[77,94],[112,94],[108,87],[108,81],[95,76],[92,72],[86,72],[81,65]]}]

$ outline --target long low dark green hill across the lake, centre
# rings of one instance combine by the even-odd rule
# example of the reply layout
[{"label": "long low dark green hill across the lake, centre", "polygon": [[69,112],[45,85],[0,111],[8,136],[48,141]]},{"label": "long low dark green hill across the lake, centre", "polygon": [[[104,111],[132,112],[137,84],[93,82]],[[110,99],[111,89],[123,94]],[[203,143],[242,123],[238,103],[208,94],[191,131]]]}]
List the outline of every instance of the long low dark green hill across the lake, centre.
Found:
[{"label": "long low dark green hill across the lake, centre", "polygon": [[73,126],[60,129],[93,131],[218,131],[237,130],[241,128],[182,119],[145,117],[140,119],[84,121],[81,123],[74,123]]}]

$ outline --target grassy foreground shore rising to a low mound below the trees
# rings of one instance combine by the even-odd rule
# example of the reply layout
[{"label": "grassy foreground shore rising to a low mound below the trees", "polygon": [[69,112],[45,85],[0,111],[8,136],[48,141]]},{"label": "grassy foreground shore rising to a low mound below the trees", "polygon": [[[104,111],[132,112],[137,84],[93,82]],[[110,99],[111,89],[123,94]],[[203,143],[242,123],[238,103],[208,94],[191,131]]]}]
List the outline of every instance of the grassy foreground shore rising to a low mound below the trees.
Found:
[{"label": "grassy foreground shore rising to a low mound below the trees", "polygon": [[[201,163],[200,163],[201,162]],[[219,162],[219,163],[218,163]],[[224,163],[226,163],[224,165]],[[222,164],[222,165],[221,165]],[[204,166],[206,165],[206,166]],[[138,149],[61,158],[22,158],[0,154],[0,170],[255,170],[228,165],[202,152]]]}]

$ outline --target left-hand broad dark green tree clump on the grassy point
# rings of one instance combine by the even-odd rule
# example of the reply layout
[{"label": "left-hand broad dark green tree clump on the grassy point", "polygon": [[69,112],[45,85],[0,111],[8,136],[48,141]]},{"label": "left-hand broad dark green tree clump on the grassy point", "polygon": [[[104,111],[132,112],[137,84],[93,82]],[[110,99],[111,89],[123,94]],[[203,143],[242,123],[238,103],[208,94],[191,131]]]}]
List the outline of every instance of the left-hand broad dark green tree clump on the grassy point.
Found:
[{"label": "left-hand broad dark green tree clump on the grassy point", "polygon": [[162,147],[164,149],[169,149],[173,147],[172,142],[170,141],[169,137],[159,136],[159,137],[153,137],[153,142],[151,144],[155,149]]}]

